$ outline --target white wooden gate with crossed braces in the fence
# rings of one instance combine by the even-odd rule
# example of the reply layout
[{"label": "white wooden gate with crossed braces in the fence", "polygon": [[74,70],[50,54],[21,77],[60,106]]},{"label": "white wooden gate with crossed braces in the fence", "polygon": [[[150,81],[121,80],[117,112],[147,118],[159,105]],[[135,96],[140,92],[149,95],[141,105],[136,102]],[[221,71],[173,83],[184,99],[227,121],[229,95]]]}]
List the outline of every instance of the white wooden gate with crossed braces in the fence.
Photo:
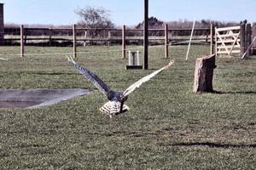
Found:
[{"label": "white wooden gate with crossed braces in the fence", "polygon": [[216,54],[241,53],[241,26],[215,28]]}]

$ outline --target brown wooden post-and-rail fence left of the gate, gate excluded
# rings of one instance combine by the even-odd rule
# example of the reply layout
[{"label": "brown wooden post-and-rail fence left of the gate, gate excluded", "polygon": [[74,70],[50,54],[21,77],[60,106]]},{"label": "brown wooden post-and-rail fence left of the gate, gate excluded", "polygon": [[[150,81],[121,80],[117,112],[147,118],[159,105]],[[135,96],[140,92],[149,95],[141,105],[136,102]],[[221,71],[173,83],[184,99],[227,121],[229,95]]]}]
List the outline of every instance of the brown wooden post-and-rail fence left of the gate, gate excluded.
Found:
[{"label": "brown wooden post-and-rail fence left of the gate, gate excluded", "polygon": [[[168,57],[170,43],[180,43],[189,40],[191,29],[170,29],[166,25],[162,29],[149,29],[149,43],[165,45],[165,57]],[[197,31],[197,33],[196,33]],[[116,28],[5,28],[4,41],[20,44],[20,56],[24,56],[24,46],[30,42],[44,42],[44,45],[54,46],[55,42],[73,45],[73,56],[76,57],[77,46],[102,42],[104,44],[121,43],[122,55],[125,58],[127,44],[143,42],[143,29],[130,29],[122,26]],[[210,42],[210,28],[195,28],[194,41]],[[185,36],[184,36],[185,35]],[[187,42],[184,42],[187,43]]]}]

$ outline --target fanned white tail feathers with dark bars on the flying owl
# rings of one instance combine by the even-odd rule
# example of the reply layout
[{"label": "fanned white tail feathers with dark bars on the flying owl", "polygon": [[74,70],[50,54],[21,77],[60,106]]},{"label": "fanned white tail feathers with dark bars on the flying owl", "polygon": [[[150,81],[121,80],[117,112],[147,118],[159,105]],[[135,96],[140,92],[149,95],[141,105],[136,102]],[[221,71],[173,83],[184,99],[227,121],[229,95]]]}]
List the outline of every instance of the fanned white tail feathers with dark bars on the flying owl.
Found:
[{"label": "fanned white tail feathers with dark bars on the flying owl", "polygon": [[[102,113],[104,113],[104,114],[110,116],[110,118],[112,118],[112,116],[119,114],[120,106],[121,106],[120,102],[108,101],[105,105],[102,106],[100,111],[102,111]],[[128,111],[128,110],[129,110],[129,107],[127,105],[123,105],[123,112]]]}]

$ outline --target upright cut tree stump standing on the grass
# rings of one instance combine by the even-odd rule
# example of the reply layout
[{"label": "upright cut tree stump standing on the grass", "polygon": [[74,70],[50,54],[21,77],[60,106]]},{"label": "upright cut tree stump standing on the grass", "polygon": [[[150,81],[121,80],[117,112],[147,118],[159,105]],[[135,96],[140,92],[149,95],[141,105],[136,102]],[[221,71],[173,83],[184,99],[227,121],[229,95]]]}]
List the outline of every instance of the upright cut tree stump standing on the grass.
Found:
[{"label": "upright cut tree stump standing on the grass", "polygon": [[213,92],[212,77],[215,65],[215,54],[202,58],[197,58],[195,61],[195,78],[193,92]]}]

